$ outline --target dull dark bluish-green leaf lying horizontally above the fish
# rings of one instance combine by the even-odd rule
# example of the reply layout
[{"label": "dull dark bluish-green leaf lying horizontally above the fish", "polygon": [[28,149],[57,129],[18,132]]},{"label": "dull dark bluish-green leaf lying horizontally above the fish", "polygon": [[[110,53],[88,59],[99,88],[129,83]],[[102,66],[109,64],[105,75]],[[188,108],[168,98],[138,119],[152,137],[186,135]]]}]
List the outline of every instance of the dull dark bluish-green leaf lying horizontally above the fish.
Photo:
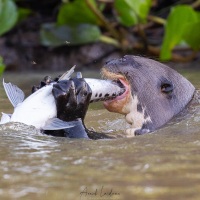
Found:
[{"label": "dull dark bluish-green leaf lying horizontally above the fish", "polygon": [[40,31],[41,43],[52,47],[91,43],[98,41],[100,36],[98,26],[91,24],[80,24],[73,27],[43,24]]}]

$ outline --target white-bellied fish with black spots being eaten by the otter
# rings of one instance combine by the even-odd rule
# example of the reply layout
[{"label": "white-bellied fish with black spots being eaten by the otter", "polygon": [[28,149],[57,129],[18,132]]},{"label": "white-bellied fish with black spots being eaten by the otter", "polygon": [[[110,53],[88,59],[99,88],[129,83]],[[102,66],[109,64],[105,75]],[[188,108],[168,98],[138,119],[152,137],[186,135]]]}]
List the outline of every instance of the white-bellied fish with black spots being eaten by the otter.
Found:
[{"label": "white-bellied fish with black spots being eaten by the otter", "polygon": [[[75,66],[64,73],[59,81],[70,79],[74,68]],[[77,78],[82,78],[82,74],[77,73]],[[92,90],[90,103],[115,98],[125,91],[116,81],[92,78],[85,78],[85,81]],[[57,82],[40,88],[25,99],[24,92],[20,88],[3,80],[5,92],[14,107],[14,112],[13,114],[2,113],[0,124],[20,122],[40,130],[60,130],[76,126],[74,121],[66,122],[56,117],[56,104],[52,94],[55,83]]]}]

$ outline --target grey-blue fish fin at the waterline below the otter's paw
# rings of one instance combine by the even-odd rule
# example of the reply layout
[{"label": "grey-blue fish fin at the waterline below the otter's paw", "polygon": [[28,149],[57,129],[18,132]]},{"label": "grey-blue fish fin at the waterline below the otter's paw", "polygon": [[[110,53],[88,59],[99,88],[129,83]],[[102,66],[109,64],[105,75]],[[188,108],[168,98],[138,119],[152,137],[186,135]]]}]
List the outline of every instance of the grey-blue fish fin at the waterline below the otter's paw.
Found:
[{"label": "grey-blue fish fin at the waterline below the otter's paw", "polygon": [[73,122],[65,122],[63,120],[60,120],[58,118],[51,118],[46,121],[43,130],[61,130],[66,128],[71,128],[79,124],[78,121]]}]

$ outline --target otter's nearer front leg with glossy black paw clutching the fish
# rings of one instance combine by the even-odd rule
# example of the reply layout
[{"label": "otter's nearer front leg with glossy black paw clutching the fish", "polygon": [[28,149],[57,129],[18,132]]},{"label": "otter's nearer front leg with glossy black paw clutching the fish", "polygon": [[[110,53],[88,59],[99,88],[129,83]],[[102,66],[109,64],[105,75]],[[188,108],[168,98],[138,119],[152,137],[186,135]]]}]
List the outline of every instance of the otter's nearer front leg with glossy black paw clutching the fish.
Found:
[{"label": "otter's nearer front leg with glossy black paw clutching the fish", "polygon": [[[88,138],[84,118],[88,110],[92,91],[82,78],[59,81],[53,85],[57,117],[63,121],[74,121],[76,126],[64,130],[69,138]],[[77,123],[78,121],[78,123]]]}]

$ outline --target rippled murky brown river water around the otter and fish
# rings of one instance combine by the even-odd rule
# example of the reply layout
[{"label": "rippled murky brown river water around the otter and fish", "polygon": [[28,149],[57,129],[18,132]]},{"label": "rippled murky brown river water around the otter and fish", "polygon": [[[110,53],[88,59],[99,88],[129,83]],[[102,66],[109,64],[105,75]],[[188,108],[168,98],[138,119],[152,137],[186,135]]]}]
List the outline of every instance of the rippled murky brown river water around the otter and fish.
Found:
[{"label": "rippled murky brown river water around the otter and fish", "polygon": [[[198,72],[182,72],[200,87]],[[28,94],[43,75],[6,75]],[[31,79],[31,81],[30,81]],[[0,110],[12,106],[0,87]],[[123,117],[101,104],[86,125],[123,136]],[[46,136],[34,127],[0,127],[0,199],[200,199],[200,112],[153,134],[107,140]]]}]

